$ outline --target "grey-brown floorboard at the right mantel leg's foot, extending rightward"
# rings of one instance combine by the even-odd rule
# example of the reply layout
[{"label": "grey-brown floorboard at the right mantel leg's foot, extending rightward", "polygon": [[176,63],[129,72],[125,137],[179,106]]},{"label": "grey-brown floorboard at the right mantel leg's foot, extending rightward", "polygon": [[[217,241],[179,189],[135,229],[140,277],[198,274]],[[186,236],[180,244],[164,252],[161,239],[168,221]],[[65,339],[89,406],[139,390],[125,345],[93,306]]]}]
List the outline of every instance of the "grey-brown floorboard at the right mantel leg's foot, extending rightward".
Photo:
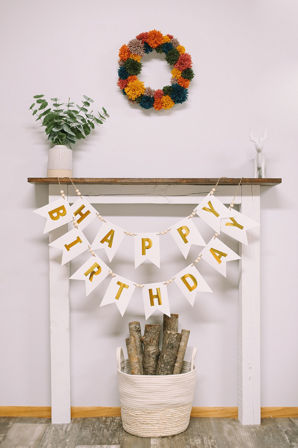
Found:
[{"label": "grey-brown floorboard at the right mantel leg's foot, extending rightward", "polygon": [[277,418],[262,418],[260,425],[250,425],[257,448],[290,448]]}]

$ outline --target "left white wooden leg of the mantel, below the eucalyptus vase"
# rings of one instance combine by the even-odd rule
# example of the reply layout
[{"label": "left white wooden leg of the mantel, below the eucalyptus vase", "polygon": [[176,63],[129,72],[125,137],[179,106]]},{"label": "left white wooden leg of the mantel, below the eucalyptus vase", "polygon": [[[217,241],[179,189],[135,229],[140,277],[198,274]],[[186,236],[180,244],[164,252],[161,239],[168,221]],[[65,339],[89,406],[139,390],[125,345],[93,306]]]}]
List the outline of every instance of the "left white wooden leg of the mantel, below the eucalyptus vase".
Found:
[{"label": "left white wooden leg of the mantel, below the eucalyptus vase", "polygon": [[[67,186],[66,186],[67,188]],[[49,202],[61,198],[59,185],[49,185]],[[67,196],[67,195],[66,195]],[[68,231],[67,224],[49,234],[50,242]],[[50,247],[50,357],[52,423],[69,423],[69,268],[61,266],[61,250]]]}]

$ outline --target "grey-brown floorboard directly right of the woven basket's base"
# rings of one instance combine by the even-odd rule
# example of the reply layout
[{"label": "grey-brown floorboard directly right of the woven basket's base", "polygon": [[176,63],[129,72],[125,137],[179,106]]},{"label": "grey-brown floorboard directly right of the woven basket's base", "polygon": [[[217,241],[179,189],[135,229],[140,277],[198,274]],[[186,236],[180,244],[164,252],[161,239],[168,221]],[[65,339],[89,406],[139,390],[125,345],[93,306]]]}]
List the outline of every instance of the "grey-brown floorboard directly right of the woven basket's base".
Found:
[{"label": "grey-brown floorboard directly right of the woven basket's base", "polygon": [[210,418],[191,417],[187,431],[190,448],[218,448]]}]

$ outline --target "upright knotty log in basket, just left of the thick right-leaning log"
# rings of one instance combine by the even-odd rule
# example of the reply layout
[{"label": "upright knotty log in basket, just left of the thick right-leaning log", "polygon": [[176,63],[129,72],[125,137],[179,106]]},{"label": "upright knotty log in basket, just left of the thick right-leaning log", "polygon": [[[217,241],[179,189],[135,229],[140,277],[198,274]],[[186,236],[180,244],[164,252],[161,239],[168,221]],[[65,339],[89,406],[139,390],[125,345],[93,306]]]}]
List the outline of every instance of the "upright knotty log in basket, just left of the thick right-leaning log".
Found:
[{"label": "upright knotty log in basket, just left of the thick right-leaning log", "polygon": [[144,345],[143,353],[143,375],[155,375],[157,362],[159,358],[159,334],[160,325],[145,325],[142,342]]}]

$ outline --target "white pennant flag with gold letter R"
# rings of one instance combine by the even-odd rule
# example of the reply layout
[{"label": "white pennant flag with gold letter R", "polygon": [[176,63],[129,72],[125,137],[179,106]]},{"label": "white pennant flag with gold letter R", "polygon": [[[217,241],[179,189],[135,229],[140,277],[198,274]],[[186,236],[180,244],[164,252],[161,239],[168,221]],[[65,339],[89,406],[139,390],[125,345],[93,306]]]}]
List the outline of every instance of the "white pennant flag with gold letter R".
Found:
[{"label": "white pennant flag with gold letter R", "polygon": [[86,296],[109,275],[110,268],[97,255],[92,255],[72,276],[71,280],[85,280]]}]

